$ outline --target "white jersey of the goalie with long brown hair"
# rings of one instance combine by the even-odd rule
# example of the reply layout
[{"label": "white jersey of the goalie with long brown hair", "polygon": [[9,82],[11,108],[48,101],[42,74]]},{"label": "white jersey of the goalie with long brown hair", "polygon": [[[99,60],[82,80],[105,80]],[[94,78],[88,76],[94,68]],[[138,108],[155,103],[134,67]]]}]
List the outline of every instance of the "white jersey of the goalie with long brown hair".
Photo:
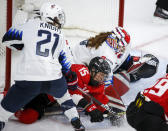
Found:
[{"label": "white jersey of the goalie with long brown hair", "polygon": [[125,49],[124,54],[118,58],[115,54],[113,48],[111,48],[106,42],[102,43],[98,49],[86,47],[87,40],[76,44],[74,48],[72,48],[72,54],[75,64],[88,64],[92,58],[96,56],[105,57],[111,67],[111,74],[107,81],[112,81],[113,72],[116,71],[122,63],[126,60],[130,53],[130,44]]}]

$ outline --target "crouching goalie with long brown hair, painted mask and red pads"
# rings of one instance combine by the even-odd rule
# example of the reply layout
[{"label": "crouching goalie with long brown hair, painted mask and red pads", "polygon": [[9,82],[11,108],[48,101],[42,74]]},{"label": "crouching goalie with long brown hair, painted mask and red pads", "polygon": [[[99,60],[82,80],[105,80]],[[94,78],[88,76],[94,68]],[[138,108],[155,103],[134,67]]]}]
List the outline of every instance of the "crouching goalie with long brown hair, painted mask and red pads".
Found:
[{"label": "crouching goalie with long brown hair, painted mask and red pads", "polygon": [[105,94],[111,106],[121,110],[125,110],[125,106],[120,97],[129,90],[130,82],[153,76],[159,63],[151,54],[142,57],[131,56],[130,44],[130,35],[127,31],[122,27],[116,27],[110,32],[102,32],[84,40],[72,48],[76,64],[89,64],[96,56],[108,60],[112,73],[105,81]]}]

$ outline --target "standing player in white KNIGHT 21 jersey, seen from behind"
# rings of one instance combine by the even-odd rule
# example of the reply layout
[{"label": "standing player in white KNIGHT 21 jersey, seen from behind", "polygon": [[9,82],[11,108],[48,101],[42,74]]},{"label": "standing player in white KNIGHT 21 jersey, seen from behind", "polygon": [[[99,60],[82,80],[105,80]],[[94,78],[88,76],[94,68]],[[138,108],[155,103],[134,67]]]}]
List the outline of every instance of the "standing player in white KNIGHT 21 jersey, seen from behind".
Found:
[{"label": "standing player in white KNIGHT 21 jersey, seen from behind", "polygon": [[[70,70],[71,58],[67,55],[66,42],[60,30],[64,22],[62,8],[47,2],[40,9],[40,19],[30,19],[25,24],[13,26],[4,35],[3,45],[18,51],[18,64],[15,83],[0,103],[0,131],[13,113],[41,93],[57,99],[75,130],[85,130],[67,90],[67,83],[77,84],[77,79]],[[65,77],[69,78],[67,82],[62,68]]]}]

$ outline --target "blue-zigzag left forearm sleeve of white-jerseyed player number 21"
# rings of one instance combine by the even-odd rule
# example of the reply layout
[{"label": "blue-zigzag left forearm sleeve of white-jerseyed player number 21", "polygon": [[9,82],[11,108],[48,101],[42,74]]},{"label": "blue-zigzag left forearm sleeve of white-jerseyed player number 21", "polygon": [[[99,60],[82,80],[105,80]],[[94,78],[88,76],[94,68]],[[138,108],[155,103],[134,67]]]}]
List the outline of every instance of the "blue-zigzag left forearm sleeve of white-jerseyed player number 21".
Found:
[{"label": "blue-zigzag left forearm sleeve of white-jerseyed player number 21", "polygon": [[22,41],[23,30],[19,26],[11,27],[2,38],[2,45],[12,50],[22,50],[24,43]]}]

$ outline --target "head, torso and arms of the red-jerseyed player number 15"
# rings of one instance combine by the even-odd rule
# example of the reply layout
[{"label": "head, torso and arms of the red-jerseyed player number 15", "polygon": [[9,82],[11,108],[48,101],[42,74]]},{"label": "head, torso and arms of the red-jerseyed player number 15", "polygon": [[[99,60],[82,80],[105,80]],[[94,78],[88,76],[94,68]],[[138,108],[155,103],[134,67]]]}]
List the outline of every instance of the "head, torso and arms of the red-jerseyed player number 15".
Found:
[{"label": "head, torso and arms of the red-jerseyed player number 15", "polygon": [[[95,57],[91,59],[89,66],[73,64],[71,67],[73,72],[78,76],[78,85],[86,93],[90,94],[104,105],[107,105],[109,99],[104,94],[104,80],[111,72],[110,65],[102,57]],[[91,102],[87,96],[80,90],[74,90],[73,87],[68,87],[72,99],[78,107],[85,109],[85,112],[90,115],[91,122],[101,122],[103,113],[107,112],[105,108],[101,107],[96,102]]]}]

